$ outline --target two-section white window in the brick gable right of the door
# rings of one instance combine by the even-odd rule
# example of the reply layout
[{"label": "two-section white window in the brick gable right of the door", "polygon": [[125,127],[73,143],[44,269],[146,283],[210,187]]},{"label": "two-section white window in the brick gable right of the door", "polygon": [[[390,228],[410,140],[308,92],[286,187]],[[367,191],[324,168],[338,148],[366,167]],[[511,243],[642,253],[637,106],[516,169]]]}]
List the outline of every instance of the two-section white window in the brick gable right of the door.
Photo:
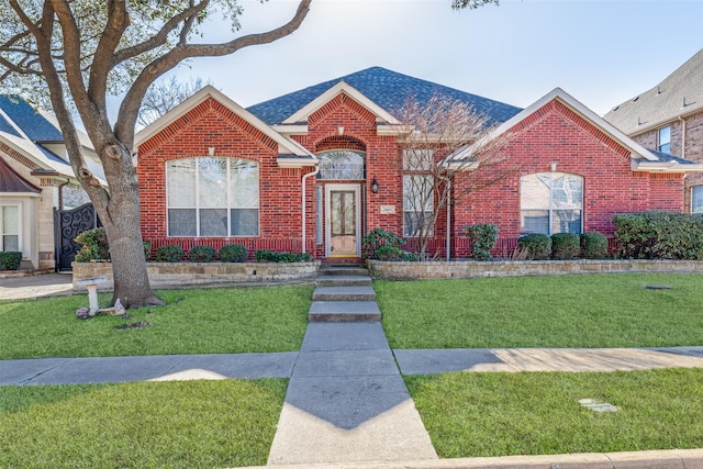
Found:
[{"label": "two-section white window in the brick gable right of the door", "polygon": [[583,178],[538,172],[520,180],[521,233],[581,233]]}]

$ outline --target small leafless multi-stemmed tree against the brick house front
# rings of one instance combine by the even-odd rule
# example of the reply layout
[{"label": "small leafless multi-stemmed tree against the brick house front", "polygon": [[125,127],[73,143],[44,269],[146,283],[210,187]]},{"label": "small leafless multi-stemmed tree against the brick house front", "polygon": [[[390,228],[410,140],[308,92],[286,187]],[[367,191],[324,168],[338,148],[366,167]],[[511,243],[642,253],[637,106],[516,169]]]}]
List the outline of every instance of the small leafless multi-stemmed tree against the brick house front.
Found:
[{"label": "small leafless multi-stemmed tree against the brick house front", "polygon": [[[403,236],[416,238],[421,259],[427,259],[436,256],[427,247],[443,213],[515,172],[504,150],[510,135],[496,134],[487,116],[443,94],[422,103],[411,99],[397,114],[402,129]],[[449,221],[446,231],[448,244]]]}]

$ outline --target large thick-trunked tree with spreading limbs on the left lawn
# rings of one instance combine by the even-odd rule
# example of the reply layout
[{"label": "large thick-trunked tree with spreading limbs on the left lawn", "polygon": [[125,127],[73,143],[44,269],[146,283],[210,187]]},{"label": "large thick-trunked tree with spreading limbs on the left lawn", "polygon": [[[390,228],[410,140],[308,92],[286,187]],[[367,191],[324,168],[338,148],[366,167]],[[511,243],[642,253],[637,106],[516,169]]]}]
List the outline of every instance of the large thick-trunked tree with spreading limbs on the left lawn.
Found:
[{"label": "large thick-trunked tree with spreading limbs on the left lawn", "polygon": [[[140,197],[132,164],[134,129],[149,86],[193,57],[228,55],[293,33],[312,0],[271,31],[208,44],[192,43],[215,7],[232,20],[236,0],[9,0],[0,9],[0,80],[8,90],[47,89],[71,167],[102,221],[112,257],[113,302],[160,304],[149,286],[142,248]],[[124,91],[114,123],[107,96]],[[83,160],[75,107],[104,168],[109,190]]]}]

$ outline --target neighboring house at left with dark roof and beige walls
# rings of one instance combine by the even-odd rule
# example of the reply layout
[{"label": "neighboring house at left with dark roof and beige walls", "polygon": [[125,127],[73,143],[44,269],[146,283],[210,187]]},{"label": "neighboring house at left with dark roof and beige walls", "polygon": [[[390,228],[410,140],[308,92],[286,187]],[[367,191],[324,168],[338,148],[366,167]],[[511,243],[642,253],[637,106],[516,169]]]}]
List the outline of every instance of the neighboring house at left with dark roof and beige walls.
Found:
[{"label": "neighboring house at left with dark roof and beige walls", "polygon": [[[82,138],[88,167],[104,179]],[[55,268],[54,209],[87,202],[55,118],[21,98],[0,96],[0,250],[22,252],[22,268]]]}]

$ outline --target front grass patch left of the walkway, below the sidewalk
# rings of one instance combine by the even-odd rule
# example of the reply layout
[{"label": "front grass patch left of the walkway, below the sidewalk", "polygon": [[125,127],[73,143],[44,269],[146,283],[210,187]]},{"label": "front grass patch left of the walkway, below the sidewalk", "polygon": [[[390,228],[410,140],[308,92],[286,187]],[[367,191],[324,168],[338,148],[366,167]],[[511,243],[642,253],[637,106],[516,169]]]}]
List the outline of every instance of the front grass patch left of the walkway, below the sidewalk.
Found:
[{"label": "front grass patch left of the walkway, below the sidewalk", "polygon": [[266,465],[287,380],[0,387],[0,467]]}]

